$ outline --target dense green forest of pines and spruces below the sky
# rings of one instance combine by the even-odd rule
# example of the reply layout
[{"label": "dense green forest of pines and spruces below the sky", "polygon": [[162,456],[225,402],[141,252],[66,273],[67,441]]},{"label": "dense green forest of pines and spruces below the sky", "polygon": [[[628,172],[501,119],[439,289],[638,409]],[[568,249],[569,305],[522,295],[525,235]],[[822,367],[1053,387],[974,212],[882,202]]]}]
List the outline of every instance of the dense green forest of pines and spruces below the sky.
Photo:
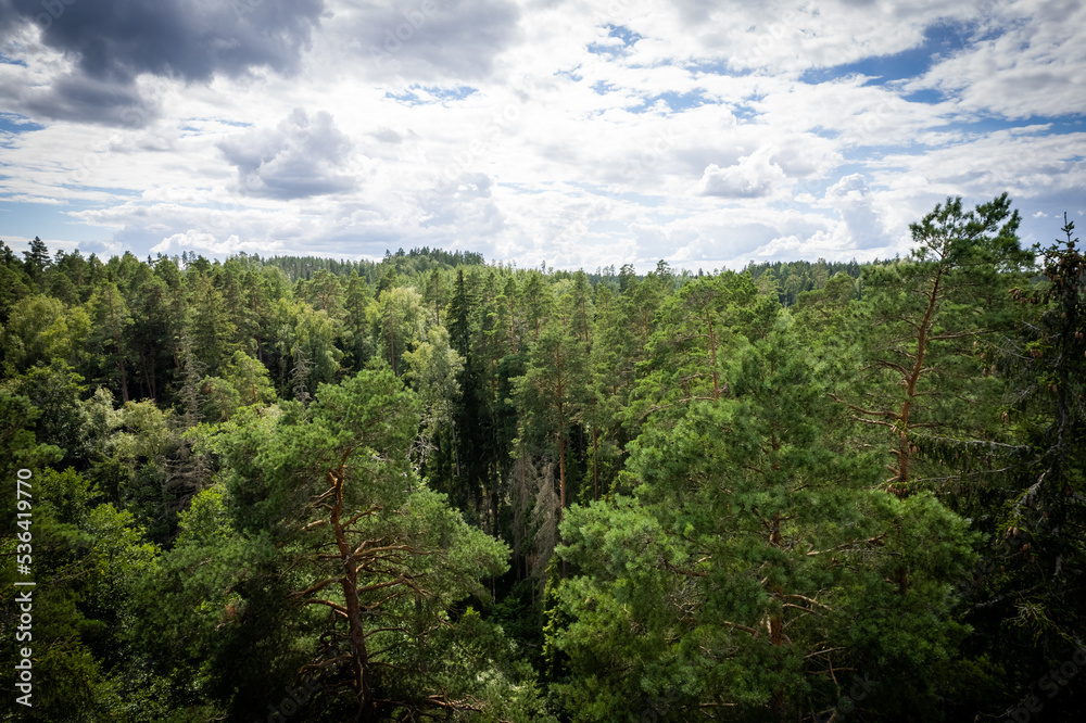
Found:
[{"label": "dense green forest of pines and spruces below the sky", "polygon": [[1075,720],[1086,261],[1019,224],[643,275],[0,242],[0,718]]}]

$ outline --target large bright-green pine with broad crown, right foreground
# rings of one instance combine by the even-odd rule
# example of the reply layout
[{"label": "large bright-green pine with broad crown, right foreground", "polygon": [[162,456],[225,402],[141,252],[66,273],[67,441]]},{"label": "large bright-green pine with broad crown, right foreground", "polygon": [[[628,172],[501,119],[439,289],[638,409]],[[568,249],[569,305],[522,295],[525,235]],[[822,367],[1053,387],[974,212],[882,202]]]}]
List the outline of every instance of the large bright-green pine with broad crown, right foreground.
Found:
[{"label": "large bright-green pine with broad crown, right foreground", "polygon": [[[839,410],[786,319],[733,355],[731,396],[689,406],[633,443],[635,498],[570,510],[559,588],[572,622],[558,686],[578,720],[667,720],[738,707],[766,720],[831,707],[829,670],[908,671],[863,707],[919,714],[946,642],[967,523],[931,496],[874,489],[877,465],[835,442]],[[892,581],[901,567],[907,588]]]}]

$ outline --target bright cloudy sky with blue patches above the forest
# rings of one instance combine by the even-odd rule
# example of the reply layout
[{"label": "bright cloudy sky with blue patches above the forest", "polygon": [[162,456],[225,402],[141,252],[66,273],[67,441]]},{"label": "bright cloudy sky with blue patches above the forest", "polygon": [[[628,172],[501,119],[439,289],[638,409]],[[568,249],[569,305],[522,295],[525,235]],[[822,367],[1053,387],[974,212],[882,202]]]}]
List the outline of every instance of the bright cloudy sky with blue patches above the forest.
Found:
[{"label": "bright cloudy sky with blue patches above the forest", "polygon": [[651,270],[1086,212],[1074,0],[0,0],[20,251]]}]

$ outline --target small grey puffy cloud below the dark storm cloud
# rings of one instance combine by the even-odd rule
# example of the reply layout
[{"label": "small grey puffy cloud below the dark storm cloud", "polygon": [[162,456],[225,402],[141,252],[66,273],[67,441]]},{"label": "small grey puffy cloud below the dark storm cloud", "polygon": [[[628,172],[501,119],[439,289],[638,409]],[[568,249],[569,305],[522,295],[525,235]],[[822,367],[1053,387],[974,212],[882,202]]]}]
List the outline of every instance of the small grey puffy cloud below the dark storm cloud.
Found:
[{"label": "small grey puffy cloud below the dark storm cloud", "polygon": [[275,128],[249,130],[218,148],[237,166],[239,186],[251,195],[304,199],[357,187],[344,173],[351,140],[324,111],[311,119],[295,109]]}]

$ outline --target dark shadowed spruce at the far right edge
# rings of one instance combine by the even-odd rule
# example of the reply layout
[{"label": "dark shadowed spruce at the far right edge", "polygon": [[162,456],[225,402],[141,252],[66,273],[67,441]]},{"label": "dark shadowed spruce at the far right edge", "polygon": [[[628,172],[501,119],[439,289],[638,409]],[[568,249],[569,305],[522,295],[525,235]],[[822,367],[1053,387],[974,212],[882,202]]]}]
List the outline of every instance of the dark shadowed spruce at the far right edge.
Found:
[{"label": "dark shadowed spruce at the far right edge", "polygon": [[990,714],[1036,695],[1046,715],[1069,718],[1082,692],[1069,681],[1049,701],[1037,687],[1086,639],[1086,264],[1074,225],[1062,230],[1064,239],[1035,249],[1038,282],[1012,290],[1022,309],[1036,309],[1032,319],[986,355],[1006,373],[1002,419],[1018,444],[938,451],[962,490],[956,503],[988,537],[965,618],[977,630],[971,650],[1001,662],[993,674],[1001,695],[968,699]]}]

